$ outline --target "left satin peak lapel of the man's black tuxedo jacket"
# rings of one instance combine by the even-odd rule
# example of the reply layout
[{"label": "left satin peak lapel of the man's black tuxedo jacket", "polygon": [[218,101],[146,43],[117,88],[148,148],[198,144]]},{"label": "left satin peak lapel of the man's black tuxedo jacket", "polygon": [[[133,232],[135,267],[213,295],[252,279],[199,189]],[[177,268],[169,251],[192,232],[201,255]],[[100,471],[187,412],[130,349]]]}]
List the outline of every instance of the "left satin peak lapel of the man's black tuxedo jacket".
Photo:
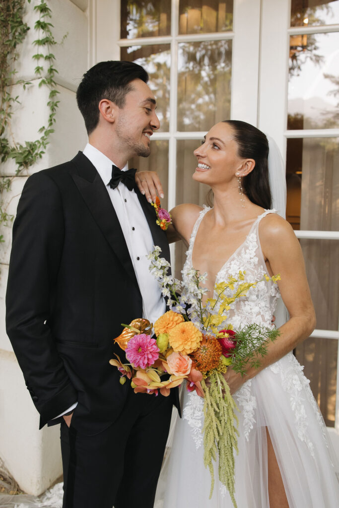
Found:
[{"label": "left satin peak lapel of the man's black tuxedo jacket", "polygon": [[[86,158],[89,163],[87,157],[84,155],[83,157]],[[77,167],[79,169],[78,165]],[[72,173],[72,178],[121,265],[125,268],[136,287],[139,288],[124,233],[122,233],[114,207],[99,173],[94,166],[91,165],[91,167],[95,171],[94,178],[88,179],[88,167],[85,169],[86,174],[84,177],[79,174]],[[91,176],[93,176],[93,174]]]}]

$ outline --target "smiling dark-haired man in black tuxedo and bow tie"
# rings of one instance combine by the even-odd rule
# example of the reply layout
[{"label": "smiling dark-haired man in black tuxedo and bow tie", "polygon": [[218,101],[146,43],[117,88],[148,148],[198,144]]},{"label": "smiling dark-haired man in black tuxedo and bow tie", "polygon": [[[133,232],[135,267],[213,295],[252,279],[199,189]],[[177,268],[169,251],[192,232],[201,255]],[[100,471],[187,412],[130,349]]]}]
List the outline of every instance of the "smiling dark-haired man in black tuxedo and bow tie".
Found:
[{"label": "smiling dark-haired man in black tuxedo and bow tie", "polygon": [[136,395],[109,365],[121,323],[166,311],[146,259],[169,260],[166,235],[127,170],[160,126],[147,81],[127,61],[83,76],[89,143],[28,178],[13,227],[7,333],[40,428],[61,421],[63,508],[151,508],[170,425],[173,394]]}]

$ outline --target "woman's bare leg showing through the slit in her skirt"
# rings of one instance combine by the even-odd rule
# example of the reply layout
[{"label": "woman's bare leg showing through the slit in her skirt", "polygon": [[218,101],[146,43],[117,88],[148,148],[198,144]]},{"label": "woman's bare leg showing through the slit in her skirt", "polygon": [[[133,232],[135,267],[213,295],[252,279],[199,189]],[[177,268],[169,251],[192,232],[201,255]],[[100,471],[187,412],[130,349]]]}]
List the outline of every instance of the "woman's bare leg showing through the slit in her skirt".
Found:
[{"label": "woman's bare leg showing through the slit in her skirt", "polygon": [[268,458],[268,497],[270,508],[289,508],[282,475],[276,461],[273,444],[266,427]]}]

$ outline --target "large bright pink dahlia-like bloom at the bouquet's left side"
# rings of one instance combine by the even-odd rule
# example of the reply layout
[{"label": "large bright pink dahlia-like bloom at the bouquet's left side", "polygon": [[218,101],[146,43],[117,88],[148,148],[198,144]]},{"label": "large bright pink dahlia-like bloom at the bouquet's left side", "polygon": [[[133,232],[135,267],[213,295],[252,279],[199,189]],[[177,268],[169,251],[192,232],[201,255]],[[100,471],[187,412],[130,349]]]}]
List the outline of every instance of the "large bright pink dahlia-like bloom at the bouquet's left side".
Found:
[{"label": "large bright pink dahlia-like bloom at the bouquet's left side", "polygon": [[158,360],[159,351],[156,339],[152,339],[145,333],[140,333],[129,340],[125,353],[126,358],[135,368],[145,369]]}]

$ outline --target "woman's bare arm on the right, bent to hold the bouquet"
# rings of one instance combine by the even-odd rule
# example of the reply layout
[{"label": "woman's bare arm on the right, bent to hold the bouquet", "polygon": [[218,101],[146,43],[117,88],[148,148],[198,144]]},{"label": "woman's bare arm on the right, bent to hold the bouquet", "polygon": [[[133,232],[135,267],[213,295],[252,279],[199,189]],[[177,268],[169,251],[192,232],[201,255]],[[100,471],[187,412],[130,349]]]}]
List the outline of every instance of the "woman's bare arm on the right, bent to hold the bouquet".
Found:
[{"label": "woman's bare arm on the right, bent to hold the bouquet", "polygon": [[271,275],[280,273],[278,282],[283,301],[290,314],[287,323],[279,328],[280,336],[267,346],[267,355],[260,359],[258,369],[248,369],[241,377],[232,368],[225,374],[231,393],[247,379],[280,360],[305,340],[316,326],[316,315],[306,278],[305,264],[299,242],[291,226],[278,215],[270,214],[259,228],[260,243]]}]

